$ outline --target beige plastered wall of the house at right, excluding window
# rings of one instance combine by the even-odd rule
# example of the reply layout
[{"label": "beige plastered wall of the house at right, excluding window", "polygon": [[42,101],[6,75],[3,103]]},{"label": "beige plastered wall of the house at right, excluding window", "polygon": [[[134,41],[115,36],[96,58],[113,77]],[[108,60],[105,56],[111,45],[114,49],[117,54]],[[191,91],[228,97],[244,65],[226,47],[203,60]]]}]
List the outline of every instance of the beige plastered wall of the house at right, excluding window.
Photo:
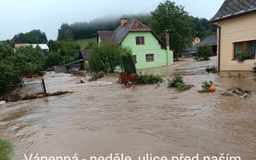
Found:
[{"label": "beige plastered wall of the house at right, excluding window", "polygon": [[[256,13],[218,22],[221,26],[220,70],[252,70],[255,59],[234,60],[234,42],[256,40]],[[218,35],[219,36],[219,35]]]}]

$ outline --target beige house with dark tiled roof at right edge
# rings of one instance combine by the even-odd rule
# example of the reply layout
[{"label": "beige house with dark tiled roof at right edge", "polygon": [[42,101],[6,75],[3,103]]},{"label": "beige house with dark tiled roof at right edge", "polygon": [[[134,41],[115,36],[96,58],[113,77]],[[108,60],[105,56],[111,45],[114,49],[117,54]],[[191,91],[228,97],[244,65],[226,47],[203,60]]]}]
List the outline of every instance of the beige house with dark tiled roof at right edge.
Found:
[{"label": "beige house with dark tiled roof at right edge", "polygon": [[[218,27],[218,70],[252,70],[256,54],[256,1],[226,0],[210,22]],[[236,60],[244,54],[244,62]]]}]

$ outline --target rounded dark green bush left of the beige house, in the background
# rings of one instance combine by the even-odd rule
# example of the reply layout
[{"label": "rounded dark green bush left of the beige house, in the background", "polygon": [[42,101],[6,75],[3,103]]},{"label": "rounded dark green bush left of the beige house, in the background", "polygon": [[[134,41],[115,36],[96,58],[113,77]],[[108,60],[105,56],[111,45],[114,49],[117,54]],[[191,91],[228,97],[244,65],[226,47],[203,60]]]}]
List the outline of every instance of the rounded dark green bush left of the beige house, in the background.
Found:
[{"label": "rounded dark green bush left of the beige house, in the background", "polygon": [[208,61],[212,55],[213,51],[210,46],[198,46],[198,51],[196,52],[196,59],[198,61]]}]

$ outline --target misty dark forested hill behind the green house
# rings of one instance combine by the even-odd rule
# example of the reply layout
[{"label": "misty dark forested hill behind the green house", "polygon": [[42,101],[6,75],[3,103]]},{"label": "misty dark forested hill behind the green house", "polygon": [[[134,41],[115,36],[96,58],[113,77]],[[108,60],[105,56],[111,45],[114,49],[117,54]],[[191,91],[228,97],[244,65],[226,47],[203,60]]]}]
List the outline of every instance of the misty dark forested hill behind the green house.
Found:
[{"label": "misty dark forested hill behind the green house", "polygon": [[[115,30],[120,25],[120,18],[137,18],[146,26],[151,26],[151,14],[123,15],[117,18],[97,18],[90,22],[74,22],[73,24],[62,23],[58,29],[58,40],[77,40],[94,38],[99,30]],[[191,26],[194,27],[194,37],[205,38],[216,32],[206,18],[194,18],[190,16]]]}]

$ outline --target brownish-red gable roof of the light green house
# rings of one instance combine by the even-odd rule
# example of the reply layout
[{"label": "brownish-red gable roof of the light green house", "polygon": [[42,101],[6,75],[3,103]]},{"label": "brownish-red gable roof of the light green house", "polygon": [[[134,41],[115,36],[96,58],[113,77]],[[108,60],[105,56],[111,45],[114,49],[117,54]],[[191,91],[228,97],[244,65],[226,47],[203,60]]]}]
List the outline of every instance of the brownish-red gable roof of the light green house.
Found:
[{"label": "brownish-red gable roof of the light green house", "polygon": [[[121,43],[126,35],[129,32],[145,31],[151,32],[154,34],[148,26],[144,25],[142,22],[139,22],[136,18],[131,19],[129,22],[126,22],[124,26],[118,26],[114,31],[98,31],[98,37],[102,39],[102,42],[117,42]],[[154,37],[158,39],[159,43],[163,43],[156,34]]]}]

